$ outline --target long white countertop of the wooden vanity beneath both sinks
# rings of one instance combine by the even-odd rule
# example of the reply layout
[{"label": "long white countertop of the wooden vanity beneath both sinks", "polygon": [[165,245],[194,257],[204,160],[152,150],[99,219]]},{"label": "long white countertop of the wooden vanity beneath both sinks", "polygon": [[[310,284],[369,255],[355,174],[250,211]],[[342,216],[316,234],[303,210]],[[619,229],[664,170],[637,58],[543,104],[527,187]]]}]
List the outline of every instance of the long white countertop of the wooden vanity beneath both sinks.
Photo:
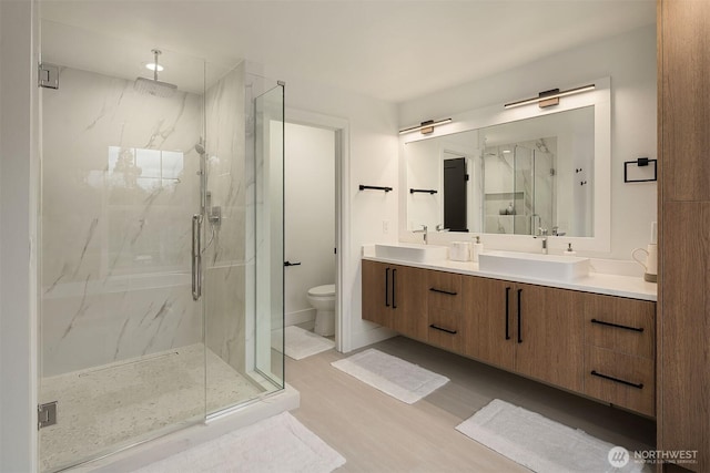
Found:
[{"label": "long white countertop of the wooden vanity beneath both sinks", "polygon": [[[412,266],[423,269],[435,269],[438,271],[458,273],[462,275],[480,276],[484,278],[501,279],[514,282],[527,282],[538,286],[557,287],[560,289],[572,289],[585,292],[604,294],[607,296],[628,297],[631,299],[652,300],[657,299],[658,285],[648,282],[642,277],[618,276],[605,273],[589,273],[589,276],[571,281],[547,280],[530,277],[519,277],[510,274],[494,274],[478,269],[478,263],[452,261],[443,259],[429,263],[412,263],[398,259],[381,258],[375,256],[374,250],[368,247],[363,248],[363,259],[372,261],[389,263],[393,265]],[[594,260],[592,260],[594,267]]]}]

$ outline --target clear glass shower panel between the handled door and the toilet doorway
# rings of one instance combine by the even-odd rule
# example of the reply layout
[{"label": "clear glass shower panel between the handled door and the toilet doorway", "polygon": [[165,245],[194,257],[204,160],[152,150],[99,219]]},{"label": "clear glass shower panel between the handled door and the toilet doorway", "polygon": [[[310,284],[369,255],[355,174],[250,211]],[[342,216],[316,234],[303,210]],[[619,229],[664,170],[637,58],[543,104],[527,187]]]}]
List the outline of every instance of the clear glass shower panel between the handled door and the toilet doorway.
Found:
[{"label": "clear glass shower panel between the handled door and the toilet doorway", "polygon": [[284,387],[283,86],[252,97],[253,81],[241,64],[206,91],[209,417]]}]

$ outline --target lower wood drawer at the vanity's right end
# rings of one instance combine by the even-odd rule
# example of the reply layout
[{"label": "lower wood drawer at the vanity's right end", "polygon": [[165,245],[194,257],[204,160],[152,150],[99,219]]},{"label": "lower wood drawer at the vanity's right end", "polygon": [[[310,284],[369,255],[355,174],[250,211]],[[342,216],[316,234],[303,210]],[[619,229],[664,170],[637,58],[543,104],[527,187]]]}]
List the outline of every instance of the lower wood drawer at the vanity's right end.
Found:
[{"label": "lower wood drawer at the vanity's right end", "polygon": [[585,347],[585,393],[653,417],[656,382],[653,360],[604,348]]}]

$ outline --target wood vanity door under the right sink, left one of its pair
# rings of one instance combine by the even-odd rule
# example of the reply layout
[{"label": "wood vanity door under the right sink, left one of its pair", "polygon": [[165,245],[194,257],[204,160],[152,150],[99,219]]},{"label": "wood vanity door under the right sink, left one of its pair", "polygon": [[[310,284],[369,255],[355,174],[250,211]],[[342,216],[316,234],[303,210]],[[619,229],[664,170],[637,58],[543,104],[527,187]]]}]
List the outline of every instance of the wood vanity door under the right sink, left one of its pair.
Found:
[{"label": "wood vanity door under the right sink, left one of its pair", "polygon": [[515,367],[514,282],[467,276],[464,282],[464,354],[513,370]]}]

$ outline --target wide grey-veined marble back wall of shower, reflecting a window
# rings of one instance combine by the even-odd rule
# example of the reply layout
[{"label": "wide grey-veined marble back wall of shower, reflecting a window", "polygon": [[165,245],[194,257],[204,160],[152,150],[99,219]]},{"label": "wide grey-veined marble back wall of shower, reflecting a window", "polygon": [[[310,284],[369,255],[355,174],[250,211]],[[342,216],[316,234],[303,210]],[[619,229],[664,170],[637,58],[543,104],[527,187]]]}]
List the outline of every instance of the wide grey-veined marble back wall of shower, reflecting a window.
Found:
[{"label": "wide grey-veined marble back wall of shower, reflecting a window", "polygon": [[70,68],[60,84],[42,90],[42,376],[201,341],[190,245],[202,96],[141,95]]}]

